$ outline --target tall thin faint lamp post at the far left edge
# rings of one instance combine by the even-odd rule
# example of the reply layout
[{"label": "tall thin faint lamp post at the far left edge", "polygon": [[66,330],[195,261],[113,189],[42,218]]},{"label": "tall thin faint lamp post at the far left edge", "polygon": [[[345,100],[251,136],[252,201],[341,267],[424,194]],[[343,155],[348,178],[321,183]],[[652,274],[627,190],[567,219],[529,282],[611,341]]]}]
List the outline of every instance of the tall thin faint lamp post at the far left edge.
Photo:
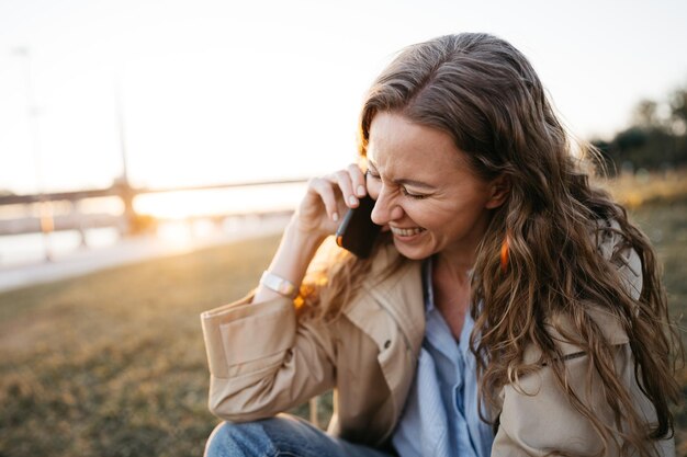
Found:
[{"label": "tall thin faint lamp post at the far left edge", "polygon": [[50,232],[55,228],[53,220],[53,207],[50,202],[44,197],[43,188],[43,163],[41,157],[41,130],[38,125],[38,108],[35,102],[35,95],[33,92],[33,80],[31,78],[31,53],[26,47],[19,47],[14,49],[14,55],[20,57],[23,62],[24,71],[24,84],[26,92],[26,113],[29,115],[29,132],[31,137],[31,149],[33,152],[33,159],[36,173],[36,191],[40,197],[40,218],[41,218],[41,232],[43,233],[43,252],[47,262],[53,260],[50,249]]}]

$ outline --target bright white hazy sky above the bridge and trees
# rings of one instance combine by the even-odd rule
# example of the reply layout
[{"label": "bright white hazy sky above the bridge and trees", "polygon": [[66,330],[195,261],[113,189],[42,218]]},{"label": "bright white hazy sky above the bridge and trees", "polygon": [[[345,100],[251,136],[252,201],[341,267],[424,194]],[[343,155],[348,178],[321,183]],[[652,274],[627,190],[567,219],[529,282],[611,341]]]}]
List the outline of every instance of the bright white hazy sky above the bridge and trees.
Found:
[{"label": "bright white hazy sky above the bridge and trees", "polygon": [[[324,174],[402,47],[488,32],[563,122],[609,138],[687,87],[687,2],[0,0],[0,192]],[[121,119],[122,122],[119,122]]]}]

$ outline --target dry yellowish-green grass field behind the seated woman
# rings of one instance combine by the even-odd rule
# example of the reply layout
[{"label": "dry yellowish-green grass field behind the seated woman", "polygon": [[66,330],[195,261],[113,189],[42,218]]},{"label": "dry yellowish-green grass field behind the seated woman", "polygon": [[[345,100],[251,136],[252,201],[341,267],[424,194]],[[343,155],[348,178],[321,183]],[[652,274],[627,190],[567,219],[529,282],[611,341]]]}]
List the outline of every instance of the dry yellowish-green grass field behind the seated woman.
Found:
[{"label": "dry yellowish-green grass field behind the seated woman", "polygon": [[[632,205],[658,248],[674,316],[687,309],[687,192],[678,194]],[[199,313],[254,286],[277,242],[0,294],[0,457],[202,455],[216,420]],[[677,413],[687,455],[685,405]]]}]

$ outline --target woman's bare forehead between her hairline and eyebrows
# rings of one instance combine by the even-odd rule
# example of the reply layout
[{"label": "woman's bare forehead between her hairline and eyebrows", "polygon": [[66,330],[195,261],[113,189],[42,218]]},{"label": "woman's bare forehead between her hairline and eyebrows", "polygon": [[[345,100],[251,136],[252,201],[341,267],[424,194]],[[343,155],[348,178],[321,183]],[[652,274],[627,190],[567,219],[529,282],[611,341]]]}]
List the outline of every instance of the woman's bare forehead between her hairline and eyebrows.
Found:
[{"label": "woman's bare forehead between her hairline and eyebrows", "polygon": [[386,172],[444,174],[466,164],[464,152],[451,135],[387,112],[378,113],[372,119],[367,155]]}]

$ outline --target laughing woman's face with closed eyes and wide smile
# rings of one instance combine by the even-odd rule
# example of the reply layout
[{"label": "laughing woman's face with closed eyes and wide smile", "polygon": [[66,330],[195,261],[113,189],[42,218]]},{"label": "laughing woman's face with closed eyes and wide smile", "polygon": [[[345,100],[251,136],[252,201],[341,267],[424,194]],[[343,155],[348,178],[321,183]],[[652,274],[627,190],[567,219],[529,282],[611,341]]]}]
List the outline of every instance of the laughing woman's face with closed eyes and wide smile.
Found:
[{"label": "laughing woman's face with closed eyes and wide smile", "polygon": [[378,113],[368,142],[372,220],[388,227],[409,259],[436,253],[472,258],[504,192],[477,178],[449,134],[387,112]]}]

